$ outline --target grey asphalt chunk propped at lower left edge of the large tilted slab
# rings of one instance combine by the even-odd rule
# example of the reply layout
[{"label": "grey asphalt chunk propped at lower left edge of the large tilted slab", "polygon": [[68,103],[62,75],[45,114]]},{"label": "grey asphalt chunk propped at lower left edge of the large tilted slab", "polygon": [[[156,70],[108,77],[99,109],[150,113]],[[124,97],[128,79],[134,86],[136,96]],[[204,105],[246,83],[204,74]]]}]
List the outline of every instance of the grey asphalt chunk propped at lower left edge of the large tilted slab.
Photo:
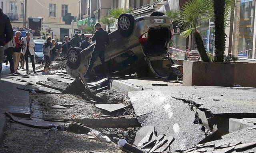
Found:
[{"label": "grey asphalt chunk propped at lower left edge of the large tilted slab", "polygon": [[[142,141],[142,139],[144,139],[144,137],[148,134],[148,133],[154,133],[155,131],[155,128],[154,126],[143,126],[142,128],[140,128],[137,133],[136,133],[136,136],[135,136],[135,139],[134,139],[134,145],[138,146],[138,143],[140,143],[140,141]],[[152,134],[153,135],[153,134]],[[152,135],[151,137],[149,137],[150,139],[152,138]],[[140,146],[142,147],[142,146]]]}]

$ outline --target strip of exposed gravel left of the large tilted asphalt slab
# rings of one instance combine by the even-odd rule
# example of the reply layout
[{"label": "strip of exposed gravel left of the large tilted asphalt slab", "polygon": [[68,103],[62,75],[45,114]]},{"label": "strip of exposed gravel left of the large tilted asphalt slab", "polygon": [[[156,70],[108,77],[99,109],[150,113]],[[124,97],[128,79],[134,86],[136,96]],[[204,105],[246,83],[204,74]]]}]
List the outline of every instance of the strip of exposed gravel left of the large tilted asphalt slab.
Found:
[{"label": "strip of exposed gravel left of the large tilted asphalt slab", "polygon": [[[30,101],[38,101],[44,119],[70,120],[72,118],[136,117],[133,108],[125,108],[116,112],[108,112],[96,108],[94,104],[86,103],[80,96],[72,94],[30,94]],[[54,105],[74,105],[66,109],[50,108]]]}]

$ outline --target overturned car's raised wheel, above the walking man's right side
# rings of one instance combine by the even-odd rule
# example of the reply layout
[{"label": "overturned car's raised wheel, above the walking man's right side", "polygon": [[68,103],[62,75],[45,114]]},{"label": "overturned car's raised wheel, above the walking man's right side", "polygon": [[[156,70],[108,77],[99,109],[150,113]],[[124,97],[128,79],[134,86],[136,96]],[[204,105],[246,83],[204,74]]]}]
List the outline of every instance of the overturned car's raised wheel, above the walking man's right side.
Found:
[{"label": "overturned car's raised wheel, above the walking man's right side", "polygon": [[118,31],[122,37],[129,37],[134,29],[134,17],[130,13],[123,13],[118,18]]}]

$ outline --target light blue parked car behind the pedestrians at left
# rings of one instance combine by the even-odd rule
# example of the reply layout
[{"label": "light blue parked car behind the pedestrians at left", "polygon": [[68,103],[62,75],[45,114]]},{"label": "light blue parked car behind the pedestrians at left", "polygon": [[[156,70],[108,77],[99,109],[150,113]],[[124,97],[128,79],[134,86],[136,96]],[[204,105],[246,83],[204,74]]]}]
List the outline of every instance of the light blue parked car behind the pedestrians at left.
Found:
[{"label": "light blue parked car behind the pedestrians at left", "polygon": [[43,44],[44,44],[44,39],[35,39],[34,43],[35,43],[35,60],[36,63],[42,63],[44,61],[44,54],[43,54]]}]

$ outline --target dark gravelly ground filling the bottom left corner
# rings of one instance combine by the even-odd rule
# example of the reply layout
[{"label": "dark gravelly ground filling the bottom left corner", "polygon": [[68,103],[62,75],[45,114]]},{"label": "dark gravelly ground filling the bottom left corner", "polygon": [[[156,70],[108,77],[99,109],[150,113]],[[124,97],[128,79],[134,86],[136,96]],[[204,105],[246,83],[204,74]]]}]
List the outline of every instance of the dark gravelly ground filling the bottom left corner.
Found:
[{"label": "dark gravelly ground filling the bottom left corner", "polygon": [[85,134],[75,134],[53,129],[38,129],[8,122],[2,153],[124,153],[114,143],[89,139]]}]

